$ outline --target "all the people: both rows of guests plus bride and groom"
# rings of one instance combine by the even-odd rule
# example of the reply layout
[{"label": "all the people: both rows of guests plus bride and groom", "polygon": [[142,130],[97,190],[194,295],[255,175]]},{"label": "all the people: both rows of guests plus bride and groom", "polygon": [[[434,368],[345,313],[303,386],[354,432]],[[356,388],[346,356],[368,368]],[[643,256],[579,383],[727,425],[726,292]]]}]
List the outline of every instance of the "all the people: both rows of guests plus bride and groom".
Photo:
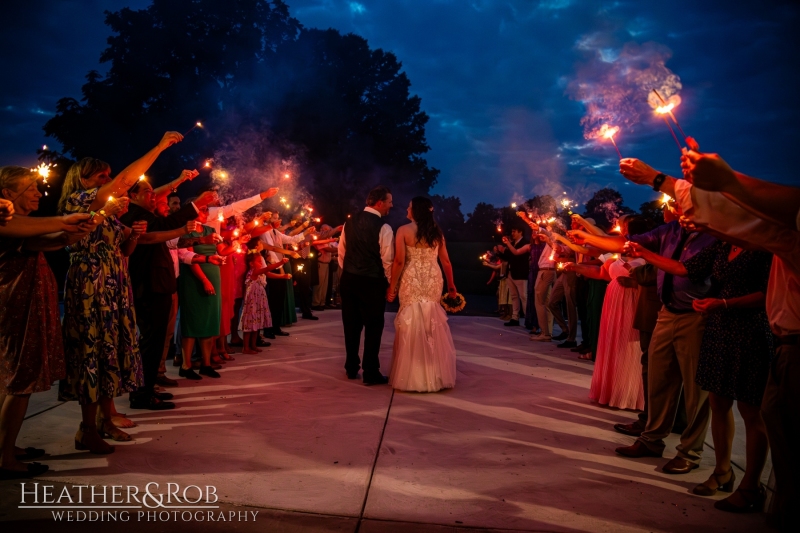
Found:
[{"label": "all the people: both rows of guests plus bride and groom", "polygon": [[[301,218],[284,224],[277,211],[247,214],[276,189],[220,205],[208,188],[181,202],[177,187],[196,171],[158,188],[140,179],[181,140],[165,134],[114,178],[103,161],[82,159],[66,175],[55,217],[29,217],[41,198],[34,172],[0,168],[4,478],[47,470],[29,462],[43,450],[15,446],[32,393],[58,382],[59,398],[81,405],[75,447],[111,453],[104,437],[130,440],[124,429],[133,425],[116,412],[114,398],[129,393],[132,409],[173,408],[165,390],[177,384],[165,374],[170,355],[181,378],[219,378],[232,347],[255,354],[288,335],[282,328],[297,321],[296,308],[302,319],[316,320],[312,311],[329,306],[340,270],[347,377],[363,369],[366,384],[416,391],[454,386],[455,348],[438,304],[439,263],[448,293],[457,293],[430,200],[412,200],[410,224],[396,237],[382,221],[392,207],[385,187],[371,191],[364,211],[339,227],[317,228]],[[731,493],[715,507],[758,512],[771,449],[774,516],[796,530],[800,466],[791,446],[800,426],[800,190],[734,172],[690,144],[681,159],[683,179],[636,159],[620,163],[623,176],[670,197],[664,224],[650,228],[639,216],[622,216],[605,232],[573,215],[571,228],[559,229],[553,219],[520,211],[484,264],[500,274],[506,326],[526,327],[531,341],[556,341],[593,361],[589,398],[639,412],[635,422],[614,426],[636,437],[616,453],[661,457],[664,439],[676,431],[677,454],[662,470],[686,474],[700,464],[710,425],[715,468],[693,492]],[[43,256],[61,248],[70,260],[63,321]],[[387,378],[378,362],[383,310],[398,294]],[[747,441],[738,486],[731,463],[734,402]]]}]

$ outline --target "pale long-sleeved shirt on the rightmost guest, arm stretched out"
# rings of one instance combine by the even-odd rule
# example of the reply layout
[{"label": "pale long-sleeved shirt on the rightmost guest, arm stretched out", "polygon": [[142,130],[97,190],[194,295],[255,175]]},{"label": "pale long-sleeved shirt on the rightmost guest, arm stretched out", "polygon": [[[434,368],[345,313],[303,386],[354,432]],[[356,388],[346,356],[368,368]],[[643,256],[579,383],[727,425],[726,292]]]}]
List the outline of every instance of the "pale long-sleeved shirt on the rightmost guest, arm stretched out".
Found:
[{"label": "pale long-sleeved shirt on the rightmost guest, arm stretched out", "polygon": [[758,218],[722,193],[675,182],[676,200],[697,227],[725,242],[772,252],[767,317],[776,335],[800,334],[800,232]]}]

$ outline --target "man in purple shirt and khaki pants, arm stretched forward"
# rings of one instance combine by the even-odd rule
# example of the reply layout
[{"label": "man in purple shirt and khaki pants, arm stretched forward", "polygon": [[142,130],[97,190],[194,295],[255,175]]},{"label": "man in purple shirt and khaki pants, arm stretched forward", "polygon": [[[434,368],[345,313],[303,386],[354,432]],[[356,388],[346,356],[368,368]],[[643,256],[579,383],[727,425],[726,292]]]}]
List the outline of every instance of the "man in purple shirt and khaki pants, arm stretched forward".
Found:
[{"label": "man in purple shirt and khaki pants, arm stretched forward", "polygon": [[[579,241],[617,253],[623,251],[629,240],[676,261],[686,261],[716,242],[708,234],[684,230],[677,221],[641,235],[598,237],[583,231],[569,234]],[[667,474],[685,474],[700,465],[710,411],[708,392],[694,382],[705,317],[694,311],[692,301],[705,298],[710,288],[709,279],[694,283],[686,277],[658,272],[658,295],[664,306],[658,314],[648,354],[647,426],[631,446],[616,449],[626,457],[661,457],[664,438],[672,430],[683,388],[688,425],[681,434],[678,454],[662,468]]]}]

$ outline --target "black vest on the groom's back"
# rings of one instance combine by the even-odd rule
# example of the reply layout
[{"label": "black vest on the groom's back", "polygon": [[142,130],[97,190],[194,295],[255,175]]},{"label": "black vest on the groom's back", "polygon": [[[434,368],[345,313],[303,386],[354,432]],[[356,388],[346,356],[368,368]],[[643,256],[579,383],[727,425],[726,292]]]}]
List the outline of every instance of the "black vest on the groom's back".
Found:
[{"label": "black vest on the groom's back", "polygon": [[383,278],[380,234],[383,219],[368,211],[356,213],[344,225],[344,271]]}]

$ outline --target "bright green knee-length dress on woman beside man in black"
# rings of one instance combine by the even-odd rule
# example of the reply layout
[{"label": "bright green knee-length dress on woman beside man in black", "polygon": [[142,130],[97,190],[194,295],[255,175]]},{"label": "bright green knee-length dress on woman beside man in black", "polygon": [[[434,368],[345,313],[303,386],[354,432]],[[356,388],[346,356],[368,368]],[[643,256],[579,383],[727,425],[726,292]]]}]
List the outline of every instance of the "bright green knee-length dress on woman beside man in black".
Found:
[{"label": "bright green knee-length dress on woman beside man in black", "polygon": [[[214,228],[203,226],[201,233],[192,232],[188,237],[205,237],[215,233]],[[214,244],[198,244],[194,247],[197,255],[215,255]],[[208,281],[214,286],[213,295],[206,294],[203,283],[192,273],[190,265],[181,263],[178,276],[178,302],[181,307],[181,336],[191,338],[216,337],[219,335],[220,314],[222,309],[221,278],[219,266],[211,263],[199,263]]]}]

